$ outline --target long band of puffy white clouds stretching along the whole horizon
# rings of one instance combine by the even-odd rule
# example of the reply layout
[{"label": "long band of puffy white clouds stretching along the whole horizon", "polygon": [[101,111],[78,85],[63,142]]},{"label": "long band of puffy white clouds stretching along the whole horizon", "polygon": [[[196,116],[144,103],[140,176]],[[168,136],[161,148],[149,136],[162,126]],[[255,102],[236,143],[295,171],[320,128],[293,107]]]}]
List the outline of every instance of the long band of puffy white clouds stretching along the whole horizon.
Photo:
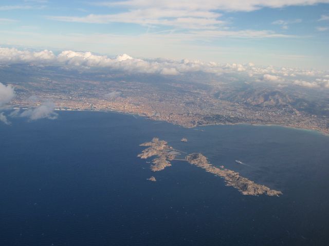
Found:
[{"label": "long band of puffy white clouds stretching along the whole horizon", "polygon": [[129,74],[145,73],[162,76],[186,76],[191,73],[206,73],[218,77],[239,76],[245,81],[290,84],[306,88],[329,88],[329,71],[297,68],[259,67],[249,64],[218,64],[199,60],[140,59],[127,54],[117,57],[96,55],[91,52],[52,51],[33,52],[15,48],[0,48],[0,64],[27,63],[36,66],[59,66],[66,69],[100,69],[102,72],[121,71]]}]

